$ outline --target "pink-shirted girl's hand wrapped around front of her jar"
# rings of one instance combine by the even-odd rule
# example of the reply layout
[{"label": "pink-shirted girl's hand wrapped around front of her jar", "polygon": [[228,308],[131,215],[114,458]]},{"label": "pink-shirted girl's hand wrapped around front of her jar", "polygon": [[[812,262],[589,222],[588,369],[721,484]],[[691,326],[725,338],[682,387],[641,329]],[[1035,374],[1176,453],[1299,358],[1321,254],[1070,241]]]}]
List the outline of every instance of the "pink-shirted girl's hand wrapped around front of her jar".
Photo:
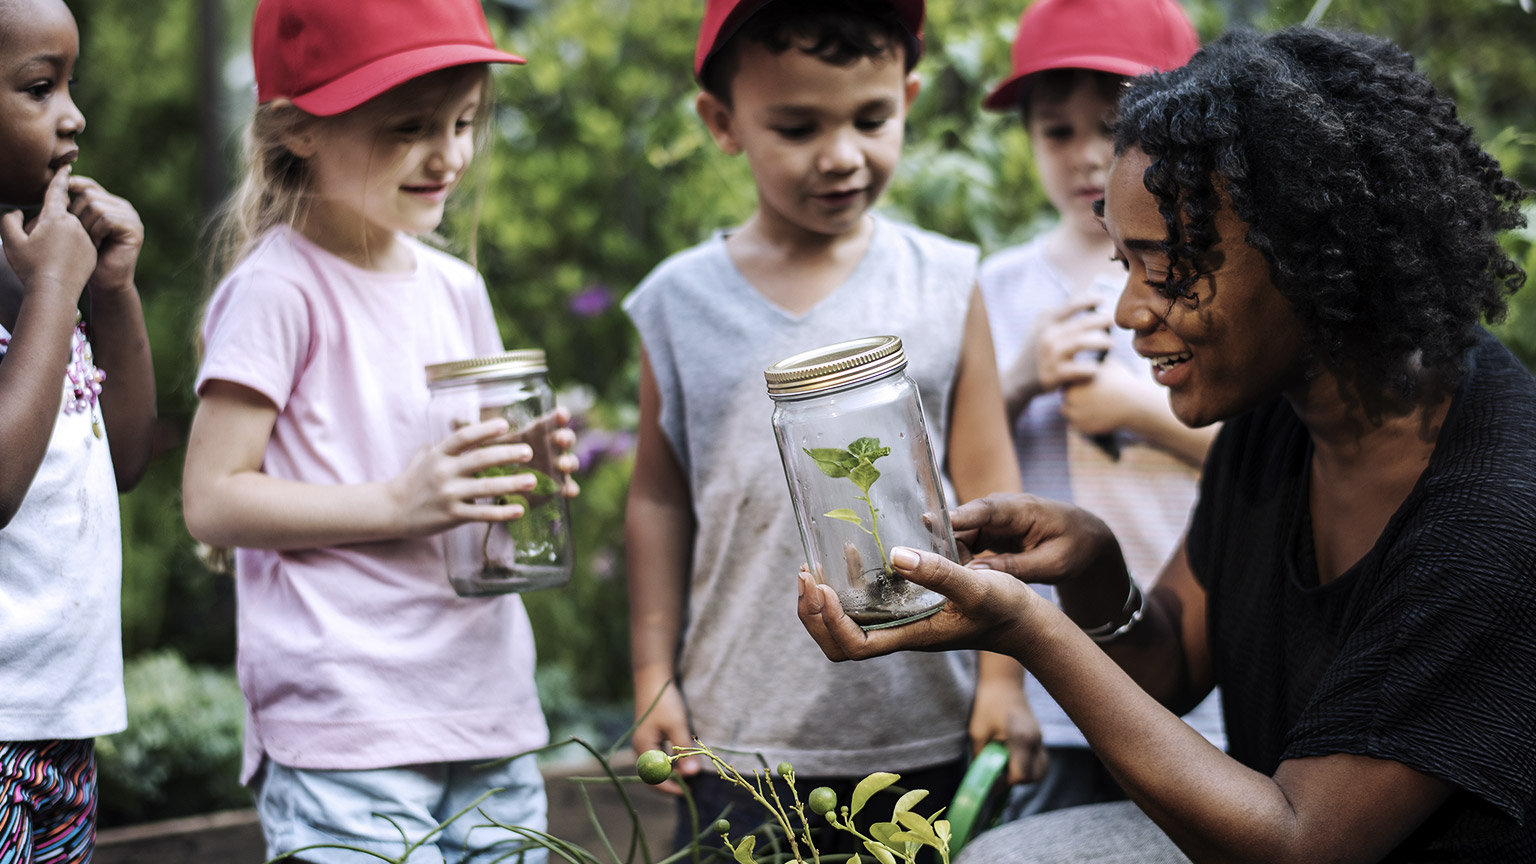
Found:
[{"label": "pink-shirted girl's hand wrapped around front of her jar", "polygon": [[475,477],[496,466],[527,463],[528,444],[496,443],[508,432],[502,418],[465,426],[439,444],[416,450],[398,477],[386,483],[396,507],[399,537],[422,537],[479,521],[505,523],[522,517],[521,504],[496,504],[501,495],[531,492],[531,472]]}]

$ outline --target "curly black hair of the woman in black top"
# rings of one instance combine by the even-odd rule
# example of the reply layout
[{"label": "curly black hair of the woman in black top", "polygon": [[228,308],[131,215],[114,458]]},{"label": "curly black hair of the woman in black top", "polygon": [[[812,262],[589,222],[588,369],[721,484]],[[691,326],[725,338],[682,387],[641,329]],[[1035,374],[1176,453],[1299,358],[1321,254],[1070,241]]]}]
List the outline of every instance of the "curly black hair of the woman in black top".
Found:
[{"label": "curly black hair of the woman in black top", "polygon": [[[1292,28],[1233,32],[1187,66],[1135,78],[1115,152],[1140,148],[1187,295],[1215,241],[1220,194],[1250,228],[1313,357],[1356,392],[1447,378],[1525,274],[1496,235],[1527,192],[1390,42]],[[1183,266],[1178,266],[1183,264]]]}]

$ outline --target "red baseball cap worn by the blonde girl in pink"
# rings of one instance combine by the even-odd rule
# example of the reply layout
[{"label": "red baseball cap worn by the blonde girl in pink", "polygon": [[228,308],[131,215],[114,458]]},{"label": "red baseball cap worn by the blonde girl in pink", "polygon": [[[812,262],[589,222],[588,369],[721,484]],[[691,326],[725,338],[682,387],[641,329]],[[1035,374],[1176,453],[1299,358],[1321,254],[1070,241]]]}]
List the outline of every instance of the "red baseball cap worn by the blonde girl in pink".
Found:
[{"label": "red baseball cap worn by the blonde girl in pink", "polygon": [[260,0],[250,49],[257,101],[316,117],[449,66],[524,61],[496,49],[479,0]]}]

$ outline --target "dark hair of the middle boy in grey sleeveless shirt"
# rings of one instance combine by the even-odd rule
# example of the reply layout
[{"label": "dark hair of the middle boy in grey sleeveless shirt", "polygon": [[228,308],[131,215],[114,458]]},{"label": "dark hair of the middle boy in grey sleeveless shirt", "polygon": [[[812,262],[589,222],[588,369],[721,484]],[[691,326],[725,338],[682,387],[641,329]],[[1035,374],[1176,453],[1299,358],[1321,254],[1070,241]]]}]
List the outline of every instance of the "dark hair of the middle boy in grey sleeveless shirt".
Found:
[{"label": "dark hair of the middle boy in grey sleeveless shirt", "polygon": [[753,42],[773,54],[799,49],[833,66],[863,58],[903,57],[908,72],[922,43],[902,26],[883,0],[774,0],[759,9],[710,57],[699,75],[705,92],[731,105],[731,81],[740,71],[740,46]]}]

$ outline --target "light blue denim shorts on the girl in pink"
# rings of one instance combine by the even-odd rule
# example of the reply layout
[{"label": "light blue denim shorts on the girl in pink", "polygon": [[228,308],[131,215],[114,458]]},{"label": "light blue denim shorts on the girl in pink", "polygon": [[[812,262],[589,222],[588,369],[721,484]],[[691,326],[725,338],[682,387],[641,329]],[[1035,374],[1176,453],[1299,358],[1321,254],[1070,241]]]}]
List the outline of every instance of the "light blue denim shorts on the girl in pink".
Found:
[{"label": "light blue denim shorts on the girl in pink", "polygon": [[[476,804],[492,789],[501,792]],[[492,819],[536,832],[548,824],[544,776],[531,755],[501,764],[438,763],[375,770],[290,769],[266,759],[255,792],[267,856],[303,849],[296,858],[312,864],[362,864],[379,858],[349,849],[304,847],[349,846],[399,859],[422,839],[404,861],[488,862],[525,842],[522,835],[496,827]],[[453,818],[464,810],[468,812]],[[444,822],[449,824],[441,833],[432,833]],[[544,849],[530,849],[524,864],[545,864]]]}]

